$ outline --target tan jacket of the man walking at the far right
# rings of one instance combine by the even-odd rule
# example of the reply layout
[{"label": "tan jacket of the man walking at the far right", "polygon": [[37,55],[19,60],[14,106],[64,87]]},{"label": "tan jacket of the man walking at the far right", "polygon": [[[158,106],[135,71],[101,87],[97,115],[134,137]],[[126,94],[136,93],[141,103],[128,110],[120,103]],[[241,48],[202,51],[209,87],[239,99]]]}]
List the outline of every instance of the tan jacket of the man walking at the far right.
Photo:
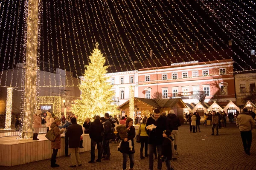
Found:
[{"label": "tan jacket of the man walking at the far right", "polygon": [[252,116],[242,112],[236,117],[236,125],[239,125],[240,131],[250,131],[253,130],[255,123]]}]

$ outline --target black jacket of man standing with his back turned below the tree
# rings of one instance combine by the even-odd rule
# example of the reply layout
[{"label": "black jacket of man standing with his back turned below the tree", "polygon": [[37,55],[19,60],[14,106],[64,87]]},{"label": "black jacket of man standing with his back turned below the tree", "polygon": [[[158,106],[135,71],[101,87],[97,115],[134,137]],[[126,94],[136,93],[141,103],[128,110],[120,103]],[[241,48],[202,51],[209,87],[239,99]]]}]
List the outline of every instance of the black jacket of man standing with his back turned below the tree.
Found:
[{"label": "black jacket of man standing with his back turned below the tree", "polygon": [[102,123],[99,119],[95,119],[91,122],[89,127],[89,136],[95,142],[102,142],[102,132],[104,131]]}]

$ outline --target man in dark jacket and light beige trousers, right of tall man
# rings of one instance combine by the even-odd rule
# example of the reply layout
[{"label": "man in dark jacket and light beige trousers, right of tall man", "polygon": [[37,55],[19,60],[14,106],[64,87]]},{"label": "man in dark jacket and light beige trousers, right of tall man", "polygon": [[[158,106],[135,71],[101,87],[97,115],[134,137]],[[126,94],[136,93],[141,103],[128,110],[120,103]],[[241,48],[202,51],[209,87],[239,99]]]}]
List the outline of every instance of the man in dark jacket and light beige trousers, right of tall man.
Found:
[{"label": "man in dark jacket and light beige trousers, right of tall man", "polygon": [[172,142],[172,160],[176,160],[175,155],[178,155],[177,152],[177,144],[179,141],[179,130],[178,127],[180,124],[180,119],[175,115],[174,110],[170,110],[167,115],[167,129],[170,130],[172,138],[174,138],[174,142]]}]

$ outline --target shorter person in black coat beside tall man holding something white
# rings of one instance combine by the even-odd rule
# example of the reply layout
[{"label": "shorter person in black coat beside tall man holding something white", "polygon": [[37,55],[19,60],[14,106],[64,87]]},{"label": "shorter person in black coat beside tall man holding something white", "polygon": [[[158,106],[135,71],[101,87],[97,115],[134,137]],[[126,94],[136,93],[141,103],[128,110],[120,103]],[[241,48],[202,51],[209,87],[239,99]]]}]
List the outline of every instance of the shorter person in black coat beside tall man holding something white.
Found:
[{"label": "shorter person in black coat beside tall man holding something white", "polygon": [[163,159],[166,162],[167,170],[171,170],[170,160],[172,160],[172,140],[173,139],[171,137],[171,131],[164,130],[163,131],[163,152],[162,152],[161,159]]}]

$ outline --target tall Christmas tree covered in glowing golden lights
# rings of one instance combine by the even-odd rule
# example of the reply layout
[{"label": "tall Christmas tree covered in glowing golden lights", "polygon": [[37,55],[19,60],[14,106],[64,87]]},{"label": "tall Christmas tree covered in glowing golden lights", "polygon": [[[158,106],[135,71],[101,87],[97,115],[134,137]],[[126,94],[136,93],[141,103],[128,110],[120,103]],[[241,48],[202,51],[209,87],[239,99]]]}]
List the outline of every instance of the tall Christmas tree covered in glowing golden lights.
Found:
[{"label": "tall Christmas tree covered in glowing golden lights", "polygon": [[111,90],[113,85],[107,82],[109,77],[106,77],[106,69],[108,66],[104,66],[105,57],[98,49],[98,43],[96,48],[91,54],[90,63],[86,65],[86,70],[79,85],[81,90],[81,100],[76,100],[75,104],[72,104],[72,112],[78,116],[77,122],[82,124],[87,117],[92,119],[94,115],[103,116],[104,113],[116,114],[119,111],[116,110],[116,105],[112,105],[112,97],[114,91]]}]

